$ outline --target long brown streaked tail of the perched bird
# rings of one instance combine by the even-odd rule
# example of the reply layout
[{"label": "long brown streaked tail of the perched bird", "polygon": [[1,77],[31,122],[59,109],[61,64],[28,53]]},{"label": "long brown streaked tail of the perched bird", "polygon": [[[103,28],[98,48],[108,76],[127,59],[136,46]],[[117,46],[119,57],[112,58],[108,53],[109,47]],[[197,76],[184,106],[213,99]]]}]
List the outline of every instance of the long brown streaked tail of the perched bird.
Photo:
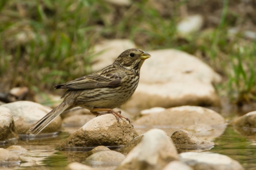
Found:
[{"label": "long brown streaked tail of the perched bird", "polygon": [[51,112],[46,114],[44,118],[38,121],[33,127],[29,128],[27,134],[37,135],[39,134],[49,123],[51,123],[57,116],[59,116],[63,111],[67,110],[70,107],[69,104],[65,102],[65,100],[52,109]]}]

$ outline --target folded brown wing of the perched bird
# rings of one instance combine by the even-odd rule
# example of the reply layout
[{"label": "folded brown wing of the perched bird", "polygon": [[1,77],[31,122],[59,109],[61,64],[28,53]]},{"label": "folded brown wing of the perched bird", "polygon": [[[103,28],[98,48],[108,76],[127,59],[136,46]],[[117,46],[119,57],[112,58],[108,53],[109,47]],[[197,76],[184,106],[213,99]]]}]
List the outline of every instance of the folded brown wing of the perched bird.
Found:
[{"label": "folded brown wing of the perched bird", "polygon": [[56,89],[92,89],[102,87],[115,87],[120,86],[122,78],[125,73],[122,70],[100,70],[99,72],[86,75],[75,79],[74,81],[66,82],[65,84],[59,84],[54,86]]}]

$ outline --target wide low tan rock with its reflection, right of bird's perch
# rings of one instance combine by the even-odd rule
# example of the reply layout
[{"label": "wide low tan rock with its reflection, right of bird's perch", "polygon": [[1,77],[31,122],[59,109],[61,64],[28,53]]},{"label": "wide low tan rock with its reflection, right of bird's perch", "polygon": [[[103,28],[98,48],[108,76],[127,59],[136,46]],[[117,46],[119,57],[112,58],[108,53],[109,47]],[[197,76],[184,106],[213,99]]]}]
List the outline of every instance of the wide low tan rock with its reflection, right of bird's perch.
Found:
[{"label": "wide low tan rock with its reflection, right of bird's perch", "polygon": [[[214,137],[220,136],[227,127],[224,118],[220,114],[198,106],[173,107],[162,112],[142,116],[132,124],[139,134],[145,133],[152,126],[161,126],[164,127],[164,131],[168,135],[184,129],[196,135],[196,137],[204,137],[207,140],[213,140]],[[204,127],[205,129],[202,129]]]}]

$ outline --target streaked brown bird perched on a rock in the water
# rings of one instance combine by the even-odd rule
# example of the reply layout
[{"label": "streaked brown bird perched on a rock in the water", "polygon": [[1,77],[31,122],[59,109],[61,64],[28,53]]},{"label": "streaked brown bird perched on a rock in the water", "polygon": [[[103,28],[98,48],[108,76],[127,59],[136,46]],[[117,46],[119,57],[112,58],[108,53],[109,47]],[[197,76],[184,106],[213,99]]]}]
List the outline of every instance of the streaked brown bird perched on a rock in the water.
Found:
[{"label": "streaked brown bird perched on a rock in the water", "polygon": [[121,115],[121,111],[113,109],[131,98],[139,83],[141,66],[148,58],[150,54],[141,49],[127,49],[115,59],[112,65],[54,86],[55,89],[67,89],[61,97],[63,102],[29,128],[27,134],[39,134],[62,112],[73,107],[86,108],[97,116],[113,114],[117,121],[120,118],[129,121]]}]

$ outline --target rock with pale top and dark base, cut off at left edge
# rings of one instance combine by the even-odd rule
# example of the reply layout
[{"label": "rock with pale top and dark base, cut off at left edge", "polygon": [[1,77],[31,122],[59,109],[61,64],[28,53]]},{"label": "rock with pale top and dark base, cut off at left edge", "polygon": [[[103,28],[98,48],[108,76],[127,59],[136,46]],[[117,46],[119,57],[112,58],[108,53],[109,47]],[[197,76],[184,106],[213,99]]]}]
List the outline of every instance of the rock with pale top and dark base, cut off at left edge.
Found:
[{"label": "rock with pale top and dark base, cut off at left edge", "polygon": [[19,139],[10,109],[0,106],[0,141]]}]

